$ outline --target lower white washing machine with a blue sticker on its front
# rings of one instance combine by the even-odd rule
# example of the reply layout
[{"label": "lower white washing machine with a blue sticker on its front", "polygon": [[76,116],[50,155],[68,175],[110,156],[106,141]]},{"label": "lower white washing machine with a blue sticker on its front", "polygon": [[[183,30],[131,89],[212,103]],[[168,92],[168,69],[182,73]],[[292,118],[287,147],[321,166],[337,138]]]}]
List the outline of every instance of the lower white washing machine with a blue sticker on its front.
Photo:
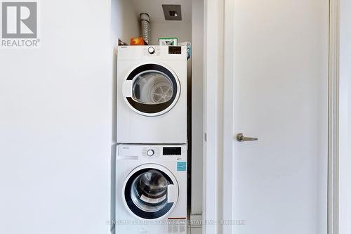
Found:
[{"label": "lower white washing machine with a blue sticker on its front", "polygon": [[115,233],[187,233],[187,145],[117,145]]}]

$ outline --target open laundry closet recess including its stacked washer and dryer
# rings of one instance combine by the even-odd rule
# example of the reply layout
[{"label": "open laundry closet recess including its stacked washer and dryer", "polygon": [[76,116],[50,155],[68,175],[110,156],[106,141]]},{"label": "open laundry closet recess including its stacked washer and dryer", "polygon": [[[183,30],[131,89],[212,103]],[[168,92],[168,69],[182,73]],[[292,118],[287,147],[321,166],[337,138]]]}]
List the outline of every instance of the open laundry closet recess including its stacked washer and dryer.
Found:
[{"label": "open laundry closet recess including its stacked washer and dryer", "polygon": [[[168,233],[190,233],[189,221],[201,227],[202,213],[204,2],[112,0],[112,32],[112,232],[125,231],[119,221],[128,210],[133,221],[168,218],[180,221],[168,223]],[[155,225],[128,230],[164,233]]]}]

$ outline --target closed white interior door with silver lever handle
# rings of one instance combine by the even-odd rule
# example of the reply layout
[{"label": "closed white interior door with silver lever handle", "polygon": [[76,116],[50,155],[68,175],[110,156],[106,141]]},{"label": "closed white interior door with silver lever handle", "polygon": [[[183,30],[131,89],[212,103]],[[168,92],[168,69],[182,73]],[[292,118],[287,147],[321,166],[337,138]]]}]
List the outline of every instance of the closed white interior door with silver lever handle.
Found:
[{"label": "closed white interior door with silver lever handle", "polygon": [[326,233],[328,4],[234,1],[235,234]]}]

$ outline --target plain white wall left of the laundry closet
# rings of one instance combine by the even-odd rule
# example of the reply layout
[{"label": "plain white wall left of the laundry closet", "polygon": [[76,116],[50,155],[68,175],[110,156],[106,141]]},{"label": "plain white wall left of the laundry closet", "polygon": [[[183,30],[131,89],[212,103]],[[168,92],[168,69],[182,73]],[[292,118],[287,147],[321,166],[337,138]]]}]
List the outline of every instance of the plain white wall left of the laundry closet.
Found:
[{"label": "plain white wall left of the laundry closet", "polygon": [[0,51],[0,233],[109,233],[110,1],[41,2],[41,48]]}]

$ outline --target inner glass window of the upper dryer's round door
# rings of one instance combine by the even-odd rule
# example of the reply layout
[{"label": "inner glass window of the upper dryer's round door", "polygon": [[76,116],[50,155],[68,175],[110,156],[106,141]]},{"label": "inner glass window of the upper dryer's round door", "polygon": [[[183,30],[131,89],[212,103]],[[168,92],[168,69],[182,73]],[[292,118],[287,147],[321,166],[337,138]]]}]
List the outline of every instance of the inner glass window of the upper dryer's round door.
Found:
[{"label": "inner glass window of the upper dryer's round door", "polygon": [[171,78],[158,71],[138,74],[133,81],[133,99],[138,103],[154,105],[166,103],[173,96]]}]

